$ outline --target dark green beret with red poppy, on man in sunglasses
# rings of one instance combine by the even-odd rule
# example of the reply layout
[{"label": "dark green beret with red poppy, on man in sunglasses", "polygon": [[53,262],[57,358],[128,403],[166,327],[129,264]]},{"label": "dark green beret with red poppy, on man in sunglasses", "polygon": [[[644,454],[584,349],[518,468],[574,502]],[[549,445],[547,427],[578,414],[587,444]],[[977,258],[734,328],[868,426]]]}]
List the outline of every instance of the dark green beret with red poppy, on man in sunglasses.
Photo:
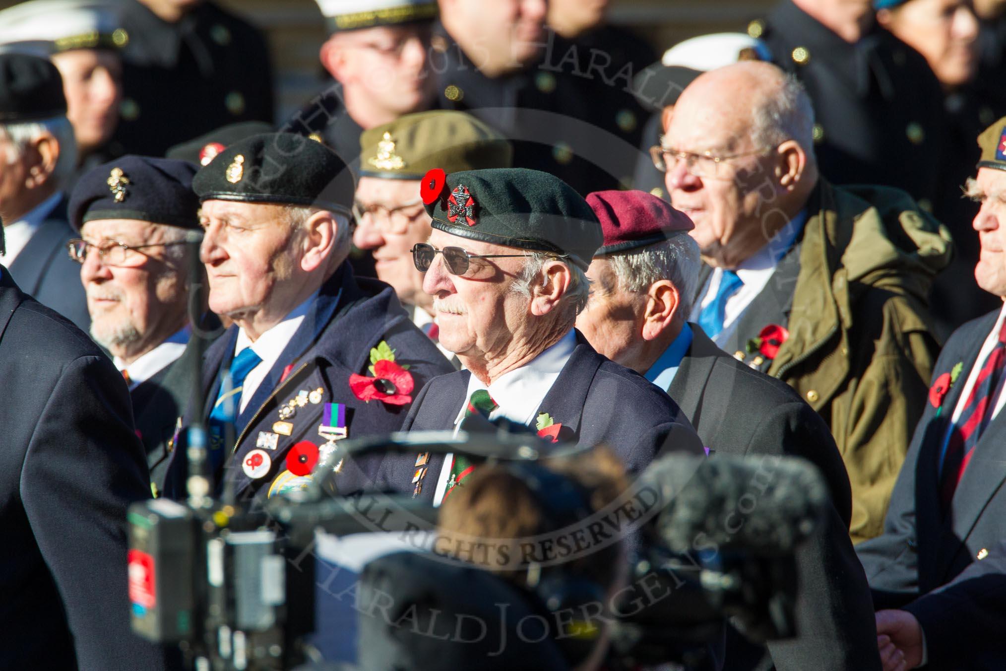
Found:
[{"label": "dark green beret with red poppy, on man in sunglasses", "polygon": [[558,177],[527,168],[445,175],[431,170],[420,193],[433,227],[461,237],[567,256],[586,270],[604,243],[597,215]]}]

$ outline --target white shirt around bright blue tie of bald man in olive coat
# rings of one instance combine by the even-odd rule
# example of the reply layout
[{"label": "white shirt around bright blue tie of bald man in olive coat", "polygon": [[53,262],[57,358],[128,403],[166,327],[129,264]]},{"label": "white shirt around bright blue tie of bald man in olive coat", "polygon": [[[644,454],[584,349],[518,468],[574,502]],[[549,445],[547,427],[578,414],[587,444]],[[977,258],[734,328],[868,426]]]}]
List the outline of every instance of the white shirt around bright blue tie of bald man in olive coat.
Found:
[{"label": "white shirt around bright blue tie of bald man in olive coat", "polygon": [[[806,222],[807,210],[801,210],[788,224],[780,228],[765,246],[742,261],[734,269],[734,272],[740,278],[743,285],[732,296],[726,299],[726,305],[723,310],[723,330],[712,338],[712,341],[717,345],[722,347],[723,343],[733,334],[733,331],[737,328],[737,320],[740,318],[740,315],[744,313],[744,310],[751,304],[751,301],[769,284],[769,280],[772,279],[773,273],[776,272],[779,262],[786,256],[789,248],[793,246],[794,240],[797,239],[797,235]],[[719,283],[722,279],[723,269],[715,269],[702,289],[700,294],[702,300],[698,301],[695,307],[692,308],[689,321],[698,322],[698,316],[701,314],[702,308],[711,303],[712,299],[716,297],[716,292],[719,290]]]}]

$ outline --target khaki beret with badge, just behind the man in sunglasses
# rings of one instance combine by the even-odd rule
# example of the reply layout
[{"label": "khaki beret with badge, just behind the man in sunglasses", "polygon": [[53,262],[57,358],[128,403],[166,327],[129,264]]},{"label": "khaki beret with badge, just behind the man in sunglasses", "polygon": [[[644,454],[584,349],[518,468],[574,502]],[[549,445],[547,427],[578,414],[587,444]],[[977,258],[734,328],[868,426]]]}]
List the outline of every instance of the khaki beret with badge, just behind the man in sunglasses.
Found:
[{"label": "khaki beret with badge, just behind the man in sunglasses", "polygon": [[360,177],[422,179],[427,171],[509,168],[513,147],[493,128],[464,112],[405,115],[360,136]]}]

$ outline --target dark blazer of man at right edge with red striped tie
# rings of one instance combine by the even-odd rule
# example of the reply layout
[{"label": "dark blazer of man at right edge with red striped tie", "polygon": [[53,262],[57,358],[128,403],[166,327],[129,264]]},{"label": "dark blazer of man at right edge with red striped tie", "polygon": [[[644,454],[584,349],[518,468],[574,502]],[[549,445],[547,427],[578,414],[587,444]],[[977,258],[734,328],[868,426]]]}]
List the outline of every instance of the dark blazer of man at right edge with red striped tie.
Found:
[{"label": "dark blazer of man at right edge with red striped tie", "polygon": [[[950,582],[981,550],[996,548],[1006,538],[1006,413],[1000,412],[982,434],[947,515],[939,494],[944,437],[968,375],[982,364],[979,350],[997,316],[998,311],[972,320],[947,341],[933,378],[959,362],[961,373],[943,398],[942,409],[927,403],[891,494],[883,534],[856,546],[877,609],[899,608]],[[958,668],[947,658],[941,662],[939,646],[931,647],[931,653],[935,669]],[[999,669],[1002,658],[976,659],[967,668]]]}]

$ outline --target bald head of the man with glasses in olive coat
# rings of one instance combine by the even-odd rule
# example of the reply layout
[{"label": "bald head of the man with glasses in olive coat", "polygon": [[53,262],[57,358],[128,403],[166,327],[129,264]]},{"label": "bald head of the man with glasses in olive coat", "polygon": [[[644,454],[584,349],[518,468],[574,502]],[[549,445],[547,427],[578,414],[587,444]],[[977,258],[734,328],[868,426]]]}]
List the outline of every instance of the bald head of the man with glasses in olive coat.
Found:
[{"label": "bald head of the man with glasses in olive coat", "polygon": [[735,268],[806,205],[813,129],[803,88],[768,62],[710,70],[682,92],[661,140],[665,157],[680,157],[665,182],[707,263]]}]

